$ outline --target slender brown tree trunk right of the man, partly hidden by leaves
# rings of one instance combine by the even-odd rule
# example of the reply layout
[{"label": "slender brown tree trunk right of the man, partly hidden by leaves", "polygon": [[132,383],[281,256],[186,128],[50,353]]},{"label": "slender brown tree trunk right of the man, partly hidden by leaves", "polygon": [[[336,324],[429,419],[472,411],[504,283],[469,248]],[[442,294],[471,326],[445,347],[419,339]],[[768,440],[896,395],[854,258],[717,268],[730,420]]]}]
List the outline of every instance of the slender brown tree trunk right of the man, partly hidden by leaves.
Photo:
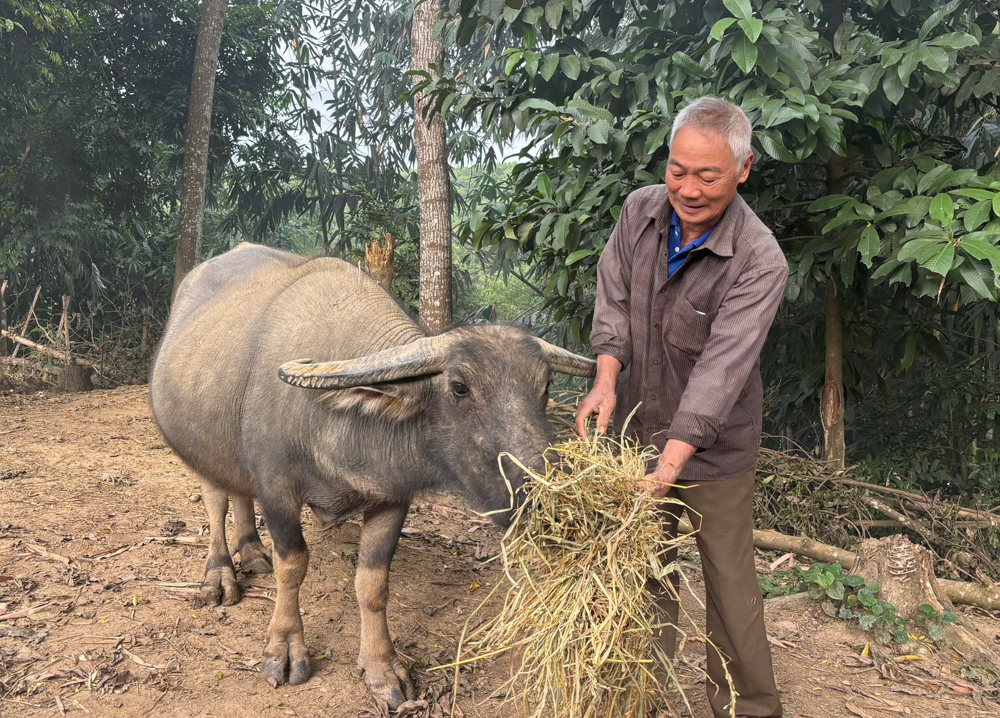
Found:
[{"label": "slender brown tree trunk right of the man, partly hidden by leaves", "polygon": [[[827,33],[831,42],[844,20],[844,1],[834,0],[830,7],[830,24]],[[847,142],[845,138],[844,145]],[[826,167],[826,191],[841,194],[844,190],[844,158],[833,153]],[[823,421],[823,444],[826,460],[843,467],[846,440],[844,439],[844,301],[843,292],[837,291],[836,273],[826,280],[826,376],[820,408]]]}]

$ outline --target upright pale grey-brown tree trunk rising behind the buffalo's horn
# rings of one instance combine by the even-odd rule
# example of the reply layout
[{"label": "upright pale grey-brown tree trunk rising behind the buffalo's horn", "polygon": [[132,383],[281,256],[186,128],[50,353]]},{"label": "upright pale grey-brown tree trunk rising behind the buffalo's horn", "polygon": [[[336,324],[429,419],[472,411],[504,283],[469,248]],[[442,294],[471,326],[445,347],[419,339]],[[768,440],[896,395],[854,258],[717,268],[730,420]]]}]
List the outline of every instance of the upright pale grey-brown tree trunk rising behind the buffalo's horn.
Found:
[{"label": "upright pale grey-brown tree trunk rising behind the buffalo's horn", "polygon": [[[410,39],[414,70],[430,73],[431,65],[440,67],[444,60],[444,43],[434,36],[441,9],[441,0],[415,2]],[[415,83],[422,80],[414,78]],[[430,110],[426,94],[417,93],[413,100],[413,144],[420,197],[420,323],[436,332],[451,323],[451,187],[444,120]]]}]

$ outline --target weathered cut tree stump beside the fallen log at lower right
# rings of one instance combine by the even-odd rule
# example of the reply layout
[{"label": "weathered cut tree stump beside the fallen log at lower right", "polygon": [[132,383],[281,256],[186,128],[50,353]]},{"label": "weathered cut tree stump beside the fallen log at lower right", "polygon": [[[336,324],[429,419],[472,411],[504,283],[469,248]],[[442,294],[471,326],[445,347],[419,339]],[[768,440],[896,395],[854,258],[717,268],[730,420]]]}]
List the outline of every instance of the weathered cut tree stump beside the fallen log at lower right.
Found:
[{"label": "weathered cut tree stump beside the fallen log at lower right", "polygon": [[[939,613],[955,608],[938,585],[930,551],[901,534],[863,541],[851,573],[877,583],[879,598],[891,603],[896,615],[907,621],[915,622],[924,605]],[[949,626],[944,643],[970,661],[998,665],[993,649],[965,626]]]}]

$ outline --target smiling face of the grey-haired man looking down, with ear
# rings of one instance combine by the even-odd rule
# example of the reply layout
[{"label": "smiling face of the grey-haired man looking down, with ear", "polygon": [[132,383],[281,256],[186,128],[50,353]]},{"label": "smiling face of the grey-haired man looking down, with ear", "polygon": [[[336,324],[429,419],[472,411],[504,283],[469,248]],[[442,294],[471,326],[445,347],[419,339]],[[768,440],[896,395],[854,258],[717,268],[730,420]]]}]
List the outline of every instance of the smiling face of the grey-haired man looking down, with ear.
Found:
[{"label": "smiling face of the grey-haired man looking down, with ear", "polygon": [[682,222],[714,227],[750,175],[753,153],[737,167],[726,141],[685,127],[674,137],[667,162],[670,204]]}]

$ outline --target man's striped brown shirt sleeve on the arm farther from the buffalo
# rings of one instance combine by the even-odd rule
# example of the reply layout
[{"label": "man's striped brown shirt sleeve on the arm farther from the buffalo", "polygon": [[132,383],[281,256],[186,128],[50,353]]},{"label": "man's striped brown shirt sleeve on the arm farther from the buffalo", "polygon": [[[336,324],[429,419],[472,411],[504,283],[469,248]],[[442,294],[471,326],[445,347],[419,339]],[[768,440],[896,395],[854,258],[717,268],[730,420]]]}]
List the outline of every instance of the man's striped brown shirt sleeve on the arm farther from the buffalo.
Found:
[{"label": "man's striped brown shirt sleeve on the arm farther from the buffalo", "polygon": [[786,265],[747,272],[726,293],[705,348],[691,371],[667,439],[711,447],[726,428],[740,391],[758,366],[788,278]]}]

